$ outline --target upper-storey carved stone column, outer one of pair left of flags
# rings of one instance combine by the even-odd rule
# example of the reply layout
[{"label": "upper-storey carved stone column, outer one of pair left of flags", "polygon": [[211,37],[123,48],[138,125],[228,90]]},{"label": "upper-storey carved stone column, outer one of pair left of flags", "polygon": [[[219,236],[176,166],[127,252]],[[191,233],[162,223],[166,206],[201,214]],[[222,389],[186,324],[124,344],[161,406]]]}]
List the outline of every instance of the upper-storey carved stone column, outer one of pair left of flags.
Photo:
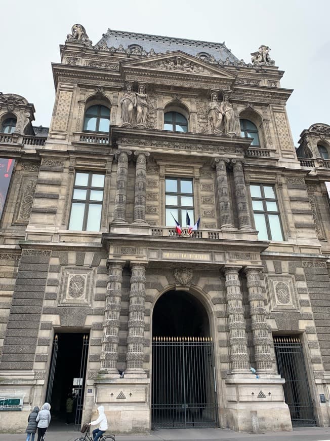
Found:
[{"label": "upper-storey carved stone column, outer one of pair left of flags", "polygon": [[117,191],[114,200],[113,222],[126,222],[127,177],[129,155],[132,152],[117,150]]}]

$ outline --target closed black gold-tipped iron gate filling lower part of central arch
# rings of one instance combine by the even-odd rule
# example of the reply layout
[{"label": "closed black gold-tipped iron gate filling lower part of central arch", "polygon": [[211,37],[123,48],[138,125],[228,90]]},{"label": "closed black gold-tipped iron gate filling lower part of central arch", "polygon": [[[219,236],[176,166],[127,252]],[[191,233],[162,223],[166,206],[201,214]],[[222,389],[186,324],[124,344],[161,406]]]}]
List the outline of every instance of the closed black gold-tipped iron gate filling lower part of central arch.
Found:
[{"label": "closed black gold-tipped iron gate filling lower part of central arch", "polygon": [[154,337],[152,427],[217,427],[213,342],[205,337]]}]

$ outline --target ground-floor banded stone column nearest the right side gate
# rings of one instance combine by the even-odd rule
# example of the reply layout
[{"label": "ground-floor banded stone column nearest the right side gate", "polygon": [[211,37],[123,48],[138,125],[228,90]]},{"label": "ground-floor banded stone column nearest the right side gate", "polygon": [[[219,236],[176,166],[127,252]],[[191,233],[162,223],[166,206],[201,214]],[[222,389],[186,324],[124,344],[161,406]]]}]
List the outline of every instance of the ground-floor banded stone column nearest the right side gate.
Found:
[{"label": "ground-floor banded stone column nearest the right side gate", "polygon": [[266,309],[264,306],[264,295],[260,284],[259,272],[260,270],[258,268],[245,269],[247,289],[249,290],[255,361],[257,373],[260,374],[269,373],[270,371],[273,372],[273,355],[268,337]]}]

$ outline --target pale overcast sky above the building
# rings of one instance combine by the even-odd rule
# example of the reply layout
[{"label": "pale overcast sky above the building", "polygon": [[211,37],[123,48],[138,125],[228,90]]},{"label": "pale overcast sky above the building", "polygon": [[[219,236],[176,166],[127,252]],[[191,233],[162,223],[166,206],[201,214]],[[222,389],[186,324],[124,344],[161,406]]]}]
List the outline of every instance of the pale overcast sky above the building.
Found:
[{"label": "pale overcast sky above the building", "polygon": [[330,124],[329,0],[11,0],[2,2],[0,91],[33,102],[34,125],[49,126],[51,62],[60,61],[74,23],[96,44],[108,28],[223,42],[239,59],[261,44],[294,89],[287,112],[294,142],[314,123]]}]

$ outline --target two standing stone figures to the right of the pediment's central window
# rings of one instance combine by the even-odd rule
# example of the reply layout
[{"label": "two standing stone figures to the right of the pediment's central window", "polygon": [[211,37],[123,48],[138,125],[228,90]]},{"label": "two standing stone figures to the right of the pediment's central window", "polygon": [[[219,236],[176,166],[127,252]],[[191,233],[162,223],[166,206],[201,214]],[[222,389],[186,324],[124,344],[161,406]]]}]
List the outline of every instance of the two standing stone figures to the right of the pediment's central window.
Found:
[{"label": "two standing stone figures to the right of the pediment's central window", "polygon": [[211,95],[208,116],[212,133],[235,134],[235,113],[229,95],[224,94],[223,101],[219,103],[217,93]]}]

